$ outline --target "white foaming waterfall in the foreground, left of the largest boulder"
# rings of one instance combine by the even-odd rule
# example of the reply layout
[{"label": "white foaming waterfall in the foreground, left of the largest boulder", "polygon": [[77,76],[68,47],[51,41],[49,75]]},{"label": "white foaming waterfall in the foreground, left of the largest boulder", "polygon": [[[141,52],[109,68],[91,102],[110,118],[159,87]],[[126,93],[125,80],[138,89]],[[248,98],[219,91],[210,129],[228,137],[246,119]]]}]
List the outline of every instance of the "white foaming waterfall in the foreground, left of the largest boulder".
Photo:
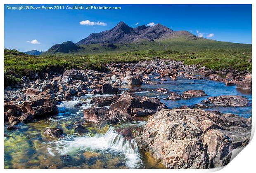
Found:
[{"label": "white foaming waterfall in the foreground, left of the largest boulder", "polygon": [[[105,134],[95,136],[82,136],[75,138],[64,138],[55,141],[54,150],[59,154],[77,154],[81,151],[110,152],[112,154],[123,154],[126,159],[127,168],[139,168],[142,164],[140,153],[135,140],[128,141],[110,127]],[[48,150],[52,155],[53,150]],[[121,157],[121,155],[119,156]]]}]

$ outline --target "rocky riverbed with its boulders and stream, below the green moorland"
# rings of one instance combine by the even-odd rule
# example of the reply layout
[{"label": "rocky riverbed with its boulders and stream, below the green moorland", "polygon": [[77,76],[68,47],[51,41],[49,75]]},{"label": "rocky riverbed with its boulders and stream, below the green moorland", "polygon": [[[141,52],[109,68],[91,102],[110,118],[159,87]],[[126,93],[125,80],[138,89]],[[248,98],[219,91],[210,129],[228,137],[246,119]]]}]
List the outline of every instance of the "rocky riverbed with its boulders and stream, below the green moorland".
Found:
[{"label": "rocky riverbed with its boulders and stream, below the green moorland", "polygon": [[5,89],[5,168],[216,168],[249,142],[251,74],[155,59]]}]

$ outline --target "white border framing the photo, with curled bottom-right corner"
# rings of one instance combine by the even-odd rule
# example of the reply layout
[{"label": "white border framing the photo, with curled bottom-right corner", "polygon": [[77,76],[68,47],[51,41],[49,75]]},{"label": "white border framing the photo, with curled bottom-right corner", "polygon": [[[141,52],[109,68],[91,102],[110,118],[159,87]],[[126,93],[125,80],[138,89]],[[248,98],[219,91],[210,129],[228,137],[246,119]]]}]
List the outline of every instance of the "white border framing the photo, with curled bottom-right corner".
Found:
[{"label": "white border framing the photo, with curled bottom-right corner", "polygon": [[[106,0],[1,0],[0,2],[2,4],[1,6],[1,10],[0,10],[0,19],[1,19],[1,25],[0,25],[0,33],[1,33],[1,91],[3,92],[4,90],[4,4],[252,4],[252,56],[255,57],[256,53],[255,53],[255,39],[256,39],[256,35],[255,35],[255,31],[256,31],[256,1],[255,0],[129,0],[129,1],[120,1],[120,0],[108,0],[106,2]],[[17,26],[19,27],[19,26]],[[253,61],[253,70],[252,70],[252,75],[254,76],[256,71],[254,69],[254,60]],[[252,102],[252,114],[255,116],[255,80],[253,80],[252,82],[253,84],[253,90],[252,90],[252,97],[253,97],[253,102]],[[2,97],[0,98],[1,104],[4,104],[4,96],[2,94]],[[1,108],[1,112],[3,113],[3,106],[0,107]],[[253,128],[252,128],[252,133],[254,134],[255,131],[255,118],[254,116],[252,116],[252,121],[253,121]],[[4,169],[4,123],[3,123],[3,118],[1,119],[1,130],[2,130],[2,137],[1,137],[1,160],[0,160],[0,165],[1,165],[1,169]],[[252,136],[251,136],[252,138]],[[216,169],[200,169],[200,170],[195,170],[195,169],[175,169],[175,170],[165,170],[165,169],[161,169],[161,170],[155,170],[155,169],[135,169],[135,170],[129,170],[129,169],[124,169],[124,170],[120,170],[120,169],[108,169],[108,170],[102,170],[102,169],[78,169],[76,171],[78,172],[102,172],[102,171],[107,171],[107,173],[112,173],[112,172],[166,172],[166,171],[171,171],[171,172],[212,172],[212,171],[218,171],[220,170],[220,172],[226,173],[231,172],[231,173],[243,173],[243,172],[254,172],[255,171],[255,156],[256,156],[256,150],[255,150],[255,146],[256,146],[256,140],[255,138],[253,138],[251,140],[251,142],[243,149],[243,152],[239,153],[237,157],[235,157],[227,166],[225,166],[224,169],[221,168],[216,168]],[[254,170],[254,171],[253,171]],[[13,169],[5,169],[3,170],[5,172],[34,172],[34,171],[38,171],[38,172],[43,172],[45,170],[40,169],[40,170],[34,170],[34,169],[20,169],[20,170],[13,170]],[[58,172],[58,171],[62,171],[62,172],[70,172],[73,170],[67,170],[67,169],[56,169],[56,170],[47,170],[50,172]]]}]

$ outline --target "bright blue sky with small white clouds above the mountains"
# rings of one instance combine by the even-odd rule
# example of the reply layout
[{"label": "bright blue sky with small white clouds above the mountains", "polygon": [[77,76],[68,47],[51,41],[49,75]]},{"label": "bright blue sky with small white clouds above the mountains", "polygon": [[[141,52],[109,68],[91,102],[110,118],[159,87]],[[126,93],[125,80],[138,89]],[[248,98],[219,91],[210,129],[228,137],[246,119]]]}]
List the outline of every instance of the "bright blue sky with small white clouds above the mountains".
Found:
[{"label": "bright blue sky with small white clouds above the mountains", "polygon": [[76,43],[119,21],[131,27],[161,23],[213,40],[251,43],[251,5],[105,5],[121,7],[116,10],[10,10],[7,6],[27,5],[5,5],[5,48],[19,51],[46,51],[64,41]]}]

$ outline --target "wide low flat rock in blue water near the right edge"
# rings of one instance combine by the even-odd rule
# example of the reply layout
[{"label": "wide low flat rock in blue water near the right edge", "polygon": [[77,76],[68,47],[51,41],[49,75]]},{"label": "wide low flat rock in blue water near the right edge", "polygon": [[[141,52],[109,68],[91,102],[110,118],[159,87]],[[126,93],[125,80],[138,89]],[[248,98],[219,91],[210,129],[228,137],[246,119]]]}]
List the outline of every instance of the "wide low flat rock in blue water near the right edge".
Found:
[{"label": "wide low flat rock in blue water near the right edge", "polygon": [[242,96],[218,96],[218,97],[209,97],[208,100],[211,104],[217,106],[247,106],[249,100]]}]

